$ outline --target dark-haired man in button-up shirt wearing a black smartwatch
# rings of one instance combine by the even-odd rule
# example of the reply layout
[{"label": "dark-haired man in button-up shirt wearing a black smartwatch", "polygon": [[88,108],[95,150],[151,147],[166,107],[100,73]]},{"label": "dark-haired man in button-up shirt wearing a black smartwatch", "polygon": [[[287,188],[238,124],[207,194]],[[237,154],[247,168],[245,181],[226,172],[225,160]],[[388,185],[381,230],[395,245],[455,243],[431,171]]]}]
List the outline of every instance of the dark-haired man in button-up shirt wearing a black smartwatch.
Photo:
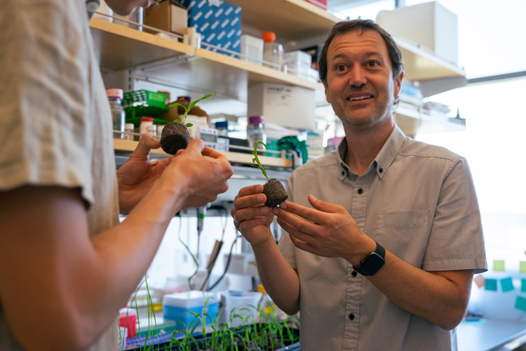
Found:
[{"label": "dark-haired man in button-up shirt wearing a black smartwatch", "polygon": [[279,208],[253,185],[231,211],[262,283],[299,311],[302,351],[457,350],[473,274],[487,270],[466,159],[396,126],[402,55],[374,22],[337,23],[319,69],[344,140],[292,173]]}]

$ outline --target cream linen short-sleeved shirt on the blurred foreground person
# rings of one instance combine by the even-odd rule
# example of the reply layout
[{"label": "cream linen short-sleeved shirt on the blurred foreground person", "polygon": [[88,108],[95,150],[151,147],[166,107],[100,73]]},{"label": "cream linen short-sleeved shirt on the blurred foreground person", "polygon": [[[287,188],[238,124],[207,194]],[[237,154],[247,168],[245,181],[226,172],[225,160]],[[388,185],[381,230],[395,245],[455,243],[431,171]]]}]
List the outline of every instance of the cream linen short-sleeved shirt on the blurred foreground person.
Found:
[{"label": "cream linen short-sleeved shirt on the blurred foreground person", "polygon": [[[112,115],[85,1],[2,1],[0,23],[0,190],[79,187],[90,235],[107,230],[119,222]],[[117,321],[108,328],[88,350],[117,350]],[[0,350],[21,350],[1,304]]]}]

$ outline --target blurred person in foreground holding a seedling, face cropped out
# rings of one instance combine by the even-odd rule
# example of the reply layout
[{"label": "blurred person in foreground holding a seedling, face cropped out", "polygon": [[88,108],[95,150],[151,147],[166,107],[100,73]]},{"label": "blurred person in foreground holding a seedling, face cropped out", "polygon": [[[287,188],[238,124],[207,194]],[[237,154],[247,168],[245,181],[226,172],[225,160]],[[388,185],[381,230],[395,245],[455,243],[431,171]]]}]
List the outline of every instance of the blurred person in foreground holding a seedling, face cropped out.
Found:
[{"label": "blurred person in foreground holding a seedling, face cropped out", "polygon": [[202,140],[149,161],[160,143],[142,135],[116,171],[87,4],[7,0],[0,22],[0,350],[115,351],[171,218],[225,192],[232,168]]}]

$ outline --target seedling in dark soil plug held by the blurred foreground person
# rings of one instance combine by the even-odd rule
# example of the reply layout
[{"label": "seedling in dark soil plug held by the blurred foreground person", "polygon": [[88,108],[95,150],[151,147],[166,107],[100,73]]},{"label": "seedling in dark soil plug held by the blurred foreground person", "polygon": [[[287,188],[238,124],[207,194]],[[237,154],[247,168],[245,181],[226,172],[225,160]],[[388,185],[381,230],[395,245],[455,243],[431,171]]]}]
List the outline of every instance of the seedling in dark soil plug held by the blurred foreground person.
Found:
[{"label": "seedling in dark soil plug held by the blurred foreground person", "polygon": [[190,102],[188,107],[184,107],[180,103],[174,103],[170,105],[173,106],[182,106],[184,108],[184,115],[182,121],[180,119],[175,119],[175,121],[166,124],[163,128],[163,133],[161,133],[161,147],[167,154],[176,154],[178,150],[186,149],[188,143],[190,143],[190,133],[188,128],[193,124],[185,124],[187,120],[187,114],[192,107],[196,105],[197,102],[210,98],[212,94],[203,96],[198,100]]}]

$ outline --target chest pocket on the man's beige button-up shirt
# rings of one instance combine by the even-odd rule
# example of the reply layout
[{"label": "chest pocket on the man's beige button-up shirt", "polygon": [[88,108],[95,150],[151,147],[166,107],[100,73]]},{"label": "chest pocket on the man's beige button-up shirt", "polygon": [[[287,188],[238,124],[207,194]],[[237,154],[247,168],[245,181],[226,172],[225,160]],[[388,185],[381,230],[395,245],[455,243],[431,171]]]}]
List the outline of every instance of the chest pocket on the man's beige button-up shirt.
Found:
[{"label": "chest pocket on the man's beige button-up shirt", "polygon": [[374,237],[405,262],[422,267],[430,232],[429,209],[378,213]]}]

